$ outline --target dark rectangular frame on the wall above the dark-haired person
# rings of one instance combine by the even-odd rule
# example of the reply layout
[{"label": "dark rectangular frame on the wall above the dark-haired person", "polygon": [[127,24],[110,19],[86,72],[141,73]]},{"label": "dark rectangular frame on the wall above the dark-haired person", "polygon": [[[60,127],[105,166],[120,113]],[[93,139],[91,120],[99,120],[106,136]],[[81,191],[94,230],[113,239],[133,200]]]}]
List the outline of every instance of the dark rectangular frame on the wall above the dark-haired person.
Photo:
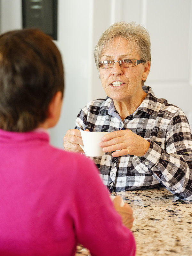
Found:
[{"label": "dark rectangular frame on the wall above the dark-haired person", "polygon": [[23,28],[39,28],[57,40],[57,0],[22,0]]}]

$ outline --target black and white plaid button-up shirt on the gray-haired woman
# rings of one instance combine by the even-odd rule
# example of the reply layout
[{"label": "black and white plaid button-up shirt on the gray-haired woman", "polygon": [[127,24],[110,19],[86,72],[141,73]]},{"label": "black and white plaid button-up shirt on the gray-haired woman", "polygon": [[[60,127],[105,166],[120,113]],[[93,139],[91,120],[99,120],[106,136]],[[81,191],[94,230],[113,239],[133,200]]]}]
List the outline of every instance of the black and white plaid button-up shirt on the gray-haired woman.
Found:
[{"label": "black and white plaid button-up shirt on the gray-haired woman", "polygon": [[174,195],[192,200],[192,135],[183,111],[157,99],[150,87],[147,96],[124,121],[111,98],[89,102],[78,114],[76,129],[113,132],[130,129],[149,140],[142,156],[112,157],[111,152],[94,157],[103,183],[110,192],[154,188],[159,183]]}]

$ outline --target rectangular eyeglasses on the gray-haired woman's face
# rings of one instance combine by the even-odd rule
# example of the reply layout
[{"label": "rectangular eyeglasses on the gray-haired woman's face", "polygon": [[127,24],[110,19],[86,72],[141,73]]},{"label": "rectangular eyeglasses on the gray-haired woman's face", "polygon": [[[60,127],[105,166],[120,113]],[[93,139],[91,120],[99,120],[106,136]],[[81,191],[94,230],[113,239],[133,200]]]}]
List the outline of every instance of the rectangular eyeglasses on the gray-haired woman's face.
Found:
[{"label": "rectangular eyeglasses on the gray-haired woman's face", "polygon": [[115,62],[119,62],[119,65],[122,68],[131,68],[134,67],[142,62],[145,62],[144,60],[118,60],[118,61],[114,61],[114,60],[101,60],[99,61],[99,67],[100,68],[113,68],[114,63]]}]

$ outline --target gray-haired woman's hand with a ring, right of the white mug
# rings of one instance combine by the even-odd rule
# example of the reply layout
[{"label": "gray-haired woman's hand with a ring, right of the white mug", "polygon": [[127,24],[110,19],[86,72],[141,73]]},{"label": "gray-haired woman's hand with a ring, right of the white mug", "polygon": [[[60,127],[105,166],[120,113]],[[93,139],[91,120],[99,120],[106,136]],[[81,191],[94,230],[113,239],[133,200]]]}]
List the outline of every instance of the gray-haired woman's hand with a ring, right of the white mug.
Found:
[{"label": "gray-haired woman's hand with a ring, right of the white mug", "polygon": [[121,130],[110,132],[102,138],[100,147],[103,152],[113,152],[112,156],[144,156],[148,151],[150,142],[132,132],[131,130]]}]

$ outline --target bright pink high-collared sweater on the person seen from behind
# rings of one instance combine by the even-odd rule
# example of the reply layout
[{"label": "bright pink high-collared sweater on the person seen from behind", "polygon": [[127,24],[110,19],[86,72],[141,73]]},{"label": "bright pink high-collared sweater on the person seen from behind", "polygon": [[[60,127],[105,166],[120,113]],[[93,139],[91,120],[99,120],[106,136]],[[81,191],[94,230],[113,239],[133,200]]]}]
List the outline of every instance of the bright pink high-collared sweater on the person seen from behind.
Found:
[{"label": "bright pink high-collared sweater on the person seen from behind", "polygon": [[0,130],[0,255],[135,254],[98,170],[52,147],[45,132]]}]

